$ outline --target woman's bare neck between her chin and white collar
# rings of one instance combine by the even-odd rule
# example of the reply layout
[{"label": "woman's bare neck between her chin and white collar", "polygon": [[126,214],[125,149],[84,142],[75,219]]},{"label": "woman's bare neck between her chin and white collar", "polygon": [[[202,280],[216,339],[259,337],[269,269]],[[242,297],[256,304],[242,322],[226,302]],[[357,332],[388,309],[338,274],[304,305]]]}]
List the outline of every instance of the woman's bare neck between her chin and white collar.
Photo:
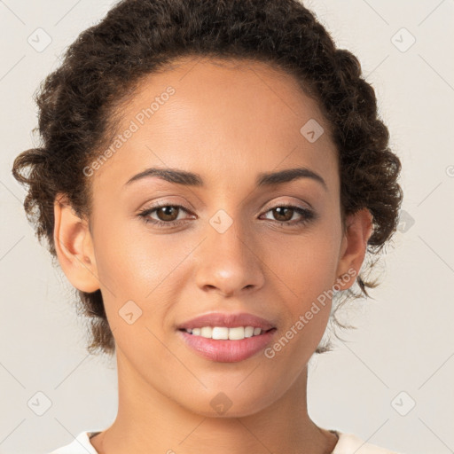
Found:
[{"label": "woman's bare neck between her chin and white collar", "polygon": [[90,442],[99,454],[331,453],[335,434],[307,412],[307,366],[285,395],[247,416],[207,417],[188,411],[133,373],[117,350],[119,406],[114,424]]}]

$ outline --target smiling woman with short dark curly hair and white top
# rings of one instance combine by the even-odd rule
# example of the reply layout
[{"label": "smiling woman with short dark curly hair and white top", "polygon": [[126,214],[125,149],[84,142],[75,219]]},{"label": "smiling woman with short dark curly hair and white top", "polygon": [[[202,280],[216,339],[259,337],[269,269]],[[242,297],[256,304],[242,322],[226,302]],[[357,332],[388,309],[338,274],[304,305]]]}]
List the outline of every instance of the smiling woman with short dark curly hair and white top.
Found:
[{"label": "smiling woman with short dark curly hair and white top", "polygon": [[311,12],[123,0],[37,102],[13,174],[119,378],[114,424],[54,454],[391,452],[307,411],[333,296],[375,286],[402,201],[374,91]]}]

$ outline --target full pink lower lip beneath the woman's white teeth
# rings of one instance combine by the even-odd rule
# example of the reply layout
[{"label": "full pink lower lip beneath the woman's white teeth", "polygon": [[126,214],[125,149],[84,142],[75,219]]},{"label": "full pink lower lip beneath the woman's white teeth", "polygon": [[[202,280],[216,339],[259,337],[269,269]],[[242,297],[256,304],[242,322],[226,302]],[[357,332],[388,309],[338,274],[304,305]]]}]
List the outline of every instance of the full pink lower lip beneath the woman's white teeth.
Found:
[{"label": "full pink lower lip beneath the woman's white teeth", "polygon": [[254,356],[270,343],[275,332],[276,328],[273,328],[266,333],[241,340],[215,340],[179,331],[186,345],[197,354],[219,363],[236,363]]}]

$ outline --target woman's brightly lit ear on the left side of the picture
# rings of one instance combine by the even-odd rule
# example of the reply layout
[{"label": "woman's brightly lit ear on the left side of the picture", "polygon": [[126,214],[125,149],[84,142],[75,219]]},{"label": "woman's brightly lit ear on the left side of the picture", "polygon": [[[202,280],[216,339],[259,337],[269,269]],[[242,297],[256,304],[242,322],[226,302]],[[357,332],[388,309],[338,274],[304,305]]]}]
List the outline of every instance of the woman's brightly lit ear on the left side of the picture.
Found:
[{"label": "woman's brightly lit ear on the left side of the picture", "polygon": [[82,292],[99,288],[93,241],[88,222],[74,213],[64,194],[54,200],[53,239],[61,269]]}]

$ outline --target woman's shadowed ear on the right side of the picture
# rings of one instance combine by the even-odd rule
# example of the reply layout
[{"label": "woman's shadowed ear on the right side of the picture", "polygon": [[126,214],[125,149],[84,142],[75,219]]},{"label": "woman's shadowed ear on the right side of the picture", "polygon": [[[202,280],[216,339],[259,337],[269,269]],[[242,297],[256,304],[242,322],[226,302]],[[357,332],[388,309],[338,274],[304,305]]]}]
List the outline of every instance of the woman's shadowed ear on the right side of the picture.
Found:
[{"label": "woman's shadowed ear on the right side of the picture", "polygon": [[[367,242],[373,231],[372,215],[363,208],[346,219],[346,231],[340,246],[340,256],[336,271],[335,284],[340,290],[346,290],[355,282],[361,270],[367,248]],[[343,275],[350,278],[342,279]]]}]

